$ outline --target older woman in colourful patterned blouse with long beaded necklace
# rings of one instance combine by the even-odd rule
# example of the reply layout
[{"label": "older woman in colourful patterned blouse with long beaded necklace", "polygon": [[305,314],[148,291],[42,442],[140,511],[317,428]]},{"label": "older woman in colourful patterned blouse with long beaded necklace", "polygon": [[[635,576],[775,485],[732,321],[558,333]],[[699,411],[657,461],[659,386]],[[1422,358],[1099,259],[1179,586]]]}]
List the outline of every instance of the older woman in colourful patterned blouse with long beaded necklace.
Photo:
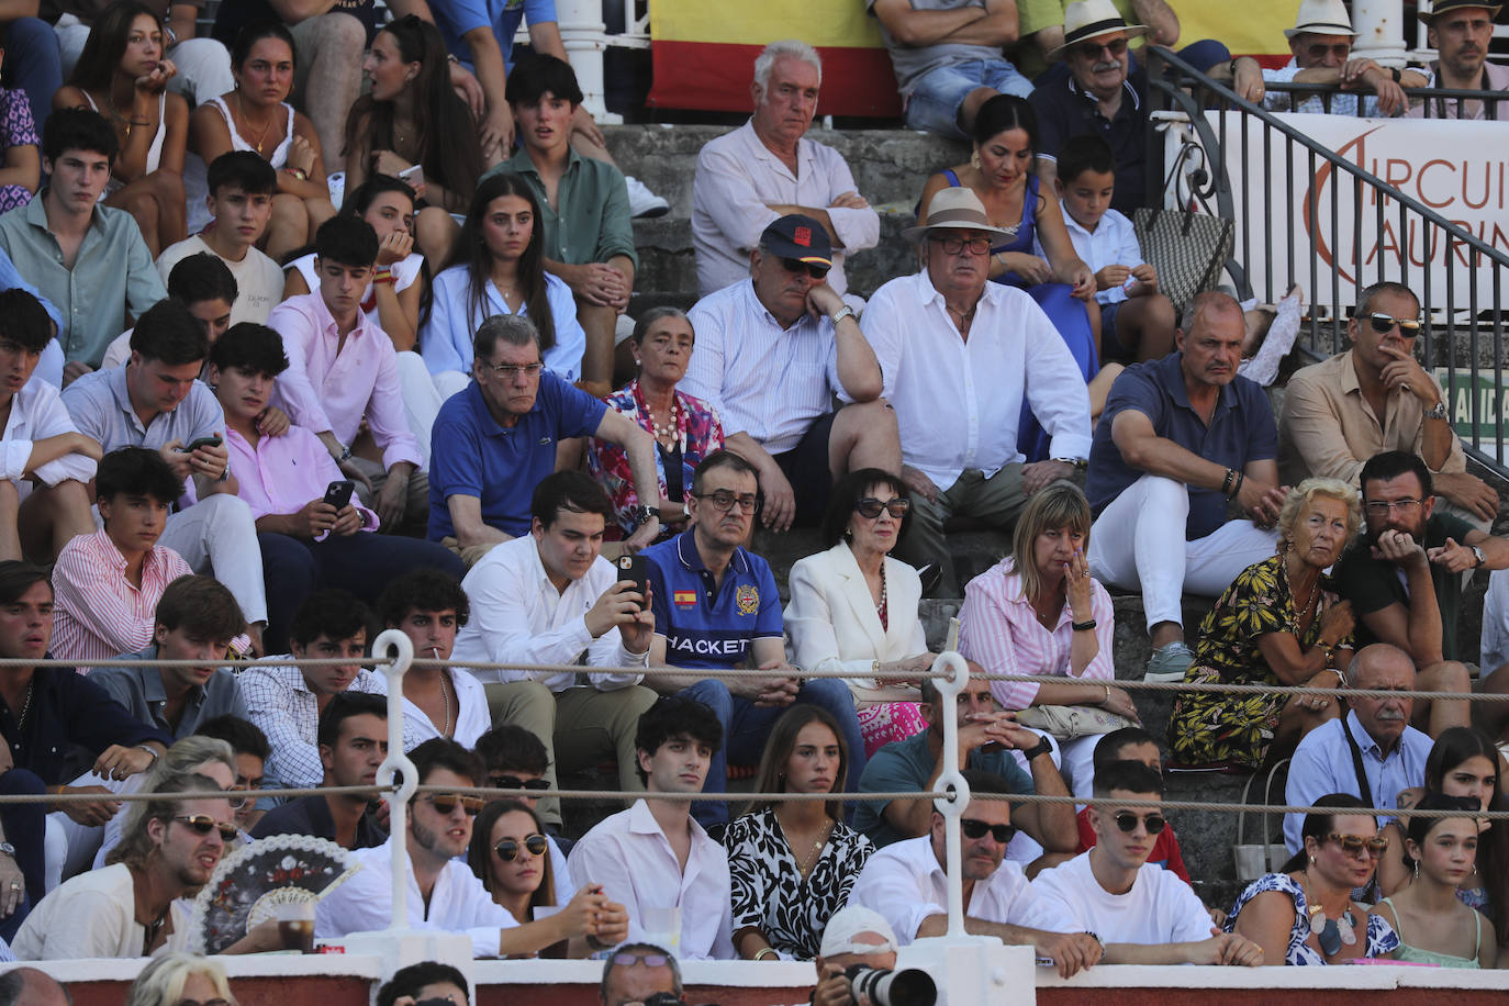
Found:
[{"label": "older woman in colourful patterned blouse with long beaded necklace", "polygon": [[650,308],[640,315],[629,336],[638,376],[608,395],[608,409],[655,436],[658,499],[640,499],[634,472],[623,448],[593,437],[587,442],[587,474],[613,501],[623,537],[649,519],[659,517],[656,541],[687,529],[687,493],[702,459],[723,446],[723,421],[717,409],[693,398],[676,385],[687,376],[697,333],[681,308]]}]

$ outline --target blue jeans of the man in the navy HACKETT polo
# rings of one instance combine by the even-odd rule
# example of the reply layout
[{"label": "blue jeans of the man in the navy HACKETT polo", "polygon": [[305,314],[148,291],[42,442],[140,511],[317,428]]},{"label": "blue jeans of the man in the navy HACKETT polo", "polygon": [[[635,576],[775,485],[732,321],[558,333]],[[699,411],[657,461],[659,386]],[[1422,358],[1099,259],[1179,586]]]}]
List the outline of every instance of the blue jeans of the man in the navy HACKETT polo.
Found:
[{"label": "blue jeans of the man in the navy HACKETT polo", "polygon": [[[735,765],[758,763],[765,751],[771,727],[776,725],[785,709],[756,706],[745,698],[738,698],[718,677],[708,677],[691,688],[684,688],[679,695],[700,701],[723,724],[723,747],[712,756],[702,792],[724,793],[729,783],[729,759],[733,759]],[[801,691],[797,692],[797,701],[818,706],[837,721],[850,757],[848,778],[842,780],[841,784],[850,793],[857,792],[859,777],[865,771],[865,739],[859,733],[854,695],[848,685],[836,677],[819,677],[801,686]],[[729,820],[729,805],[718,801],[697,801],[691,805],[691,816],[703,828],[721,825]]]}]

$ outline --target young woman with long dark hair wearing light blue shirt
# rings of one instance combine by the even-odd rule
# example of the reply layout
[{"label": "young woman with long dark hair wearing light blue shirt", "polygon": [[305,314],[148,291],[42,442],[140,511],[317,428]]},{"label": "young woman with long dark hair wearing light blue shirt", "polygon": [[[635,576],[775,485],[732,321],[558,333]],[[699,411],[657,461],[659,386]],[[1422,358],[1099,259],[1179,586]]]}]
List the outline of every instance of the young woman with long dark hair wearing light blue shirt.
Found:
[{"label": "young woman with long dark hair wearing light blue shirt", "polygon": [[540,333],[545,367],[564,382],[581,376],[587,335],[570,287],[545,271],[540,207],[530,184],[504,172],[477,186],[447,267],[435,278],[421,356],[441,394],[471,380],[472,333],[496,314],[519,314]]}]

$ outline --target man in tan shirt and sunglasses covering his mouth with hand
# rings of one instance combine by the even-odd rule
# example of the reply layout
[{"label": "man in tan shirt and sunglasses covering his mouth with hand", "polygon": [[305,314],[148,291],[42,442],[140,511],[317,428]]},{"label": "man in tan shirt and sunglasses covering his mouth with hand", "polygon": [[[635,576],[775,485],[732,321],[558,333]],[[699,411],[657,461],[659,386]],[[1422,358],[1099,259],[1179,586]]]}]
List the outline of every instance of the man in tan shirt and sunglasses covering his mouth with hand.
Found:
[{"label": "man in tan shirt and sunglasses covering his mouth with hand", "polygon": [[1420,300],[1403,284],[1378,282],[1357,297],[1346,323],[1352,348],[1289,379],[1278,416],[1283,481],[1311,475],[1360,486],[1367,459],[1384,451],[1418,454],[1431,471],[1438,508],[1488,531],[1498,493],[1467,474],[1441,385],[1415,360]]}]

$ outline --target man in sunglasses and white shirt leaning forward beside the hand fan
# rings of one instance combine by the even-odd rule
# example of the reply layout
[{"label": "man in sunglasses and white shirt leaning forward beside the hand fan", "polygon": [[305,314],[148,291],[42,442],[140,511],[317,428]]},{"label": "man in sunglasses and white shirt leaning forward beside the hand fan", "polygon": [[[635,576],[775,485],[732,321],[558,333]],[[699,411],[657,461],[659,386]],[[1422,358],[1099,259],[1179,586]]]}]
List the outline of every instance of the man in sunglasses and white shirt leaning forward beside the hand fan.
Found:
[{"label": "man in sunglasses and white shirt leaning forward beside the hand fan", "polygon": [[[445,738],[426,741],[409,753],[420,786],[469,789],[486,778],[481,760]],[[570,912],[519,923],[466,866],[472,824],[480,796],[424,793],[409,802],[409,896],[407,926],[466,934],[472,956],[502,958],[533,955],[575,935]],[[392,920],[392,839],[352,858],[361,869],[320,900],[314,912],[314,935],[344,937],[350,932],[386,929]],[[623,905],[602,893],[585,893],[587,943],[595,949],[614,946],[628,928]]]}]

